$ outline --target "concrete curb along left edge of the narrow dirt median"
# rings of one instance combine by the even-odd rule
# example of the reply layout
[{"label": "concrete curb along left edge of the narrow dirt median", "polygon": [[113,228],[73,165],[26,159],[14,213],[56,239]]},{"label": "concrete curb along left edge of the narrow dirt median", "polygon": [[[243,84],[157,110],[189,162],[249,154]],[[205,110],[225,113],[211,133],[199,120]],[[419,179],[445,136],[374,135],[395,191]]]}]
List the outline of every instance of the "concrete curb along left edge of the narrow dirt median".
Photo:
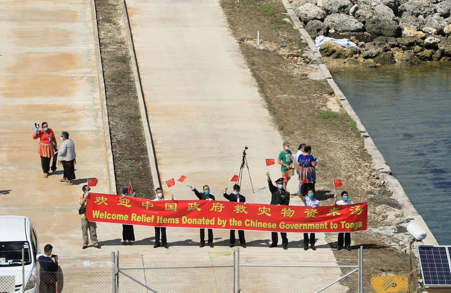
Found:
[{"label": "concrete curb along left edge of the narrow dirt median", "polygon": [[108,110],[106,107],[106,94],[105,94],[105,81],[103,80],[103,67],[100,55],[100,41],[99,31],[97,29],[97,13],[95,0],[91,0],[91,12],[92,12],[92,26],[94,31],[94,44],[96,50],[97,60],[97,76],[100,89],[101,105],[102,105],[102,118],[103,129],[105,131],[105,146],[106,146],[106,160],[108,161],[108,174],[110,178],[110,193],[117,194],[116,190],[116,176],[113,163],[113,151],[111,149],[111,137],[110,137],[110,124],[108,121]]}]

